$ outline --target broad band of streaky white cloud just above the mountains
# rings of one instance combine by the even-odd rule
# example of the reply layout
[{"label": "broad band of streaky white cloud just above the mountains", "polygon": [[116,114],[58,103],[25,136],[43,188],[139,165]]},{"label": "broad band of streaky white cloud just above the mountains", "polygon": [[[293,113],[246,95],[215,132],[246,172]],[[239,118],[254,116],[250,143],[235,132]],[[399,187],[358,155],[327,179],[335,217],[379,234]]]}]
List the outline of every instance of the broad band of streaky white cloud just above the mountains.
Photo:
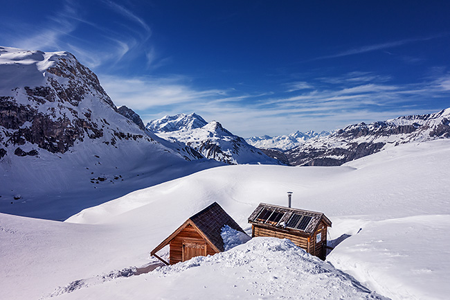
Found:
[{"label": "broad band of streaky white cloud just above the mountains", "polygon": [[[345,80],[381,78],[379,82]],[[127,105],[141,114],[143,121],[165,114],[196,112],[207,121],[217,120],[241,136],[288,134],[296,130],[334,130],[352,123],[383,121],[397,116],[428,113],[423,99],[437,101],[450,97],[450,76],[426,82],[394,85],[375,73],[347,73],[336,76],[325,88],[285,91],[285,96],[245,94],[235,89],[193,87],[192,78],[117,78],[100,76],[116,105]],[[314,80],[313,80],[314,81]],[[294,94],[294,95],[292,95]],[[278,96],[277,96],[278,95]],[[443,107],[436,102],[436,111]],[[450,103],[449,105],[450,106]]]}]

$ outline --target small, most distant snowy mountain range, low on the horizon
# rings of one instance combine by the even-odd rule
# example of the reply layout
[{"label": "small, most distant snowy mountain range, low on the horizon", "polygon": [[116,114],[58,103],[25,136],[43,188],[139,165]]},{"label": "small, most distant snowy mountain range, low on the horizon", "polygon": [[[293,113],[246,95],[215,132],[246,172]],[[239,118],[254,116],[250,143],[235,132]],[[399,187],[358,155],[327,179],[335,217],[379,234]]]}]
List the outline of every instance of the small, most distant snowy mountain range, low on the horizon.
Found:
[{"label": "small, most distant snowy mountain range, low on the horizon", "polygon": [[273,150],[290,150],[292,148],[296,148],[299,145],[305,143],[305,141],[309,139],[314,139],[321,136],[327,136],[330,132],[314,132],[313,130],[309,130],[307,132],[296,131],[294,133],[288,135],[280,135],[280,136],[252,136],[248,139],[245,139],[247,143],[255,146],[260,149],[273,149]]}]

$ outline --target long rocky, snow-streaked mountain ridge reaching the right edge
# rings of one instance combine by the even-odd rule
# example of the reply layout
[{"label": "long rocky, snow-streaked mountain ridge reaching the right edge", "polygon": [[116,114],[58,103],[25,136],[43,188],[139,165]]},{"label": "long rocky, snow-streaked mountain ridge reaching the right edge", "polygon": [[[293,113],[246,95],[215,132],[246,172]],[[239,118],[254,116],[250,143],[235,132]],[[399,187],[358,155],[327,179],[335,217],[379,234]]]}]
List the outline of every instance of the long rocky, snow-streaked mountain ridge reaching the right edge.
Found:
[{"label": "long rocky, snow-streaked mountain ridge reaching the right edge", "polygon": [[328,136],[306,141],[284,155],[291,166],[340,166],[402,143],[445,138],[450,138],[450,108],[434,114],[350,125]]}]

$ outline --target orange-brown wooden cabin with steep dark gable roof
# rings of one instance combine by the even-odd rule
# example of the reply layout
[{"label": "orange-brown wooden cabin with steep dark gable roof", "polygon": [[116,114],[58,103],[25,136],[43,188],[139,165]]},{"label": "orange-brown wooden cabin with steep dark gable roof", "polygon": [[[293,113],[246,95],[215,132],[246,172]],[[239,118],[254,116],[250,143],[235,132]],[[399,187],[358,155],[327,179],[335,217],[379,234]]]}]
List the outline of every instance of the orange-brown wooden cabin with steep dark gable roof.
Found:
[{"label": "orange-brown wooden cabin with steep dark gable roof", "polygon": [[[174,265],[181,261],[188,261],[195,256],[223,252],[224,241],[220,233],[225,225],[244,232],[235,220],[222,209],[222,206],[214,202],[206,209],[192,215],[150,254],[166,265]],[[169,263],[156,255],[156,252],[166,245],[170,245]]]}]

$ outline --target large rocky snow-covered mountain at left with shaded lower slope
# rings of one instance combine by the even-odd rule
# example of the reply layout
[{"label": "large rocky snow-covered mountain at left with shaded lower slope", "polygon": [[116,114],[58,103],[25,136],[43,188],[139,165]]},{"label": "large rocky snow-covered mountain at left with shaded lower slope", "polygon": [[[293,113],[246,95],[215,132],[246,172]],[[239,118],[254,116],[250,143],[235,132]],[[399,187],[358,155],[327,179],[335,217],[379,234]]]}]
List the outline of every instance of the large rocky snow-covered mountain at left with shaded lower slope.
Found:
[{"label": "large rocky snow-covered mountain at left with shaded lower slope", "polygon": [[[131,109],[117,109],[71,53],[0,47],[0,74],[0,211],[66,218],[217,166],[143,129]],[[80,199],[80,191],[91,193]]]}]

